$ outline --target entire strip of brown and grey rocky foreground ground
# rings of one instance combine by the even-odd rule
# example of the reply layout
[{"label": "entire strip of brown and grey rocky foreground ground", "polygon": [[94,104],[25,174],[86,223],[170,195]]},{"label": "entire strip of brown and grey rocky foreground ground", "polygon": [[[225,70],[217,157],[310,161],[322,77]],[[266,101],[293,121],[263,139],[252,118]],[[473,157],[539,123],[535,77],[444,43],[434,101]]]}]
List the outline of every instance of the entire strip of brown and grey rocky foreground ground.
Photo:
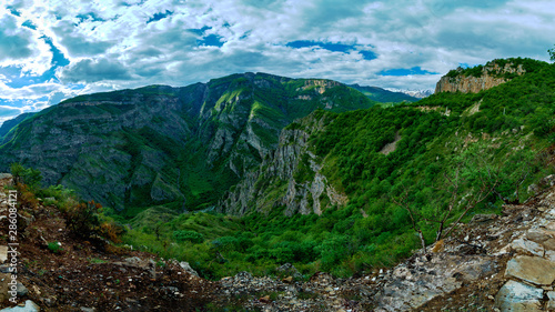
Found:
[{"label": "entire strip of brown and grey rocky foreground ground", "polygon": [[[0,202],[6,209],[6,198]],[[54,208],[24,220],[18,295],[28,310],[1,311],[555,311],[553,187],[505,205],[502,215],[475,215],[395,268],[351,279],[316,273],[303,281],[284,264],[280,278],[242,272],[211,282],[185,262],[72,239]],[[8,266],[0,268],[7,281]]]}]

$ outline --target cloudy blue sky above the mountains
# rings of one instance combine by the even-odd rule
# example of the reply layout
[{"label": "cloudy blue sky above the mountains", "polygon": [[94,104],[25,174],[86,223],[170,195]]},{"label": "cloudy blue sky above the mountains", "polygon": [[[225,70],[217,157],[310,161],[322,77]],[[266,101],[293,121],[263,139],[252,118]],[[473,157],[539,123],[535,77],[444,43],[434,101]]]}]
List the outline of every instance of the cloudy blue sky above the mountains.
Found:
[{"label": "cloudy blue sky above the mountains", "polygon": [[458,66],[548,60],[553,1],[0,1],[0,122],[78,94],[238,72],[433,90]]}]

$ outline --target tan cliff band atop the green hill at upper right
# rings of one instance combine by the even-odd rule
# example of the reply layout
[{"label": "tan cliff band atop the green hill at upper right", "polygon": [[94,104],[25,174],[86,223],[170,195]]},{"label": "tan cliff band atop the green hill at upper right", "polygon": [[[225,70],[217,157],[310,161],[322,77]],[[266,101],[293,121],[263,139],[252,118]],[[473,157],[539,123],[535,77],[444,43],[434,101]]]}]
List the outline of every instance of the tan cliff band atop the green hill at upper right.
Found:
[{"label": "tan cliff band atop the green hill at upper right", "polygon": [[[460,68],[457,71],[462,73],[463,69]],[[482,68],[480,77],[464,74],[455,77],[444,76],[437,82],[435,93],[456,91],[477,93],[508,81],[509,79],[505,78],[505,76],[512,73],[521,76],[525,73],[525,70],[522,64],[515,67],[512,63],[506,63],[504,67],[500,67],[497,63],[493,63]]]}]

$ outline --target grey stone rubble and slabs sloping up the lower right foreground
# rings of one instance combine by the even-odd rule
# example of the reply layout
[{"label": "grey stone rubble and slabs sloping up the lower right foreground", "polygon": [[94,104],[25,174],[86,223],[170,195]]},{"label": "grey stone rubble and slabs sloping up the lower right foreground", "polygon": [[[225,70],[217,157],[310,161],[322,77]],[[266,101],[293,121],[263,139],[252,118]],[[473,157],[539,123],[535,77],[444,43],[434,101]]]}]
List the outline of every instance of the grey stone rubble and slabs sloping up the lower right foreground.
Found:
[{"label": "grey stone rubble and slabs sloping up the lower right foreground", "polygon": [[426,253],[372,275],[319,273],[289,283],[242,273],[221,283],[252,311],[555,311],[554,281],[551,188],[525,204],[505,205],[501,217],[475,215]]}]

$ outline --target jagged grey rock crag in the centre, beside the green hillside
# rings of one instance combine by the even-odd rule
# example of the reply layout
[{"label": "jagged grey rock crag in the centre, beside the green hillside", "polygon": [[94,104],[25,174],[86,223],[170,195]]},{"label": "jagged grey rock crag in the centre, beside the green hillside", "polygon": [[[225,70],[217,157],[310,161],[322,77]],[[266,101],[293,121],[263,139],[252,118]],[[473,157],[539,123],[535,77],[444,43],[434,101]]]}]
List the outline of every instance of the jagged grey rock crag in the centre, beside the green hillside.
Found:
[{"label": "jagged grey rock crag in the centre, beside the green hillside", "polygon": [[324,121],[311,115],[297,122],[301,129],[284,129],[278,149],[228,192],[219,211],[242,215],[251,210],[268,212],[284,207],[287,215],[321,214],[330,205],[347,202],[346,195],[321,173],[321,160],[310,151],[309,138],[323,129]]}]

